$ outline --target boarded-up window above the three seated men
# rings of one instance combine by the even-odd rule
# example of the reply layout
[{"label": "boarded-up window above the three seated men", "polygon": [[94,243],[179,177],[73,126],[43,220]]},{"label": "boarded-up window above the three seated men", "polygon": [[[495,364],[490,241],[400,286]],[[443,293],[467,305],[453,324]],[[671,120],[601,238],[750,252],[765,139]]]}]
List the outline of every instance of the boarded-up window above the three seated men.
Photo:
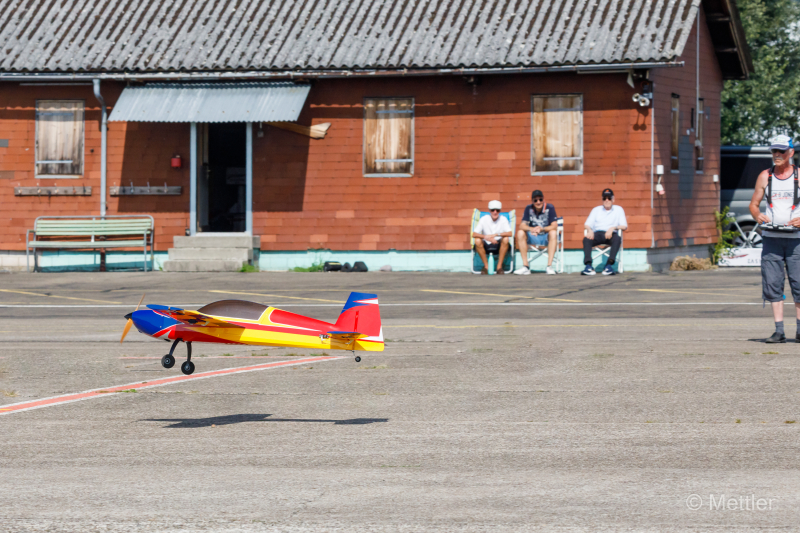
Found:
[{"label": "boarded-up window above the three seated men", "polygon": [[531,117],[531,173],[583,172],[581,95],[534,96]]}]

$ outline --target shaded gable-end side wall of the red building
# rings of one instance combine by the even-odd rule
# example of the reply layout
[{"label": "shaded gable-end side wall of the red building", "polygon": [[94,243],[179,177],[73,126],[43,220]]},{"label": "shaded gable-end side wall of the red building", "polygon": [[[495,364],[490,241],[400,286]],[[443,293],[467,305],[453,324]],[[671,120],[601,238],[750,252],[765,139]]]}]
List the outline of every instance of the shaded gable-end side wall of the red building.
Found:
[{"label": "shaded gable-end side wall of the red building", "polygon": [[[652,71],[655,80],[655,165],[664,165],[662,180],[666,194],[655,195],[653,229],[656,246],[706,244],[716,242],[714,211],[719,209],[719,183],[713,175],[719,174],[720,146],[720,93],[722,72],[719,69],[714,46],[701,10],[700,19],[700,91],[710,119],[704,119],[703,133],[705,164],[702,173],[695,174],[691,199],[682,199],[678,190],[678,174],[670,172],[670,107],[672,93],[680,95],[681,135],[691,127],[691,109],[696,108],[697,97],[697,27],[686,43],[683,68]],[[689,136],[692,143],[695,134]],[[627,243],[626,243],[627,244]]]}]

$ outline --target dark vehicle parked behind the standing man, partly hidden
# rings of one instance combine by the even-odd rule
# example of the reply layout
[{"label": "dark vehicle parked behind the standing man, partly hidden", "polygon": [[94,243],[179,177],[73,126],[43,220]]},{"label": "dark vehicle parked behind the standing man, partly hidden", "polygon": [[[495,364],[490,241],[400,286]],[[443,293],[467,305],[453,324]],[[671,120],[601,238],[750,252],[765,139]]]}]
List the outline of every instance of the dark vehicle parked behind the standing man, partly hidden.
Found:
[{"label": "dark vehicle parked behind the standing man, partly hidden", "polygon": [[[723,146],[720,152],[720,209],[729,207],[736,221],[734,226],[739,229],[736,246],[761,248],[761,231],[750,214],[750,199],[758,175],[772,165],[769,146]],[[765,198],[761,200],[761,211],[766,209]]]}]

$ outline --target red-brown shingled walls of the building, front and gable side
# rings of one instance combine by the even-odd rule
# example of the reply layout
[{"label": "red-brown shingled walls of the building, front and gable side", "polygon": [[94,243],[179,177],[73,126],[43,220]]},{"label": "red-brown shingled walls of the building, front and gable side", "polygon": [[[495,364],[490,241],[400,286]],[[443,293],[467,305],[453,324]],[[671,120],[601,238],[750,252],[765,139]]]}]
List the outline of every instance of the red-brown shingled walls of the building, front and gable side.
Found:
[{"label": "red-brown shingled walls of the building, front and gable side", "polygon": [[[705,25],[701,27],[705,29]],[[405,79],[336,79],[315,82],[301,124],[331,122],[323,140],[264,126],[254,136],[254,232],[265,250],[466,250],[475,207],[499,199],[522,215],[533,189],[541,189],[564,217],[566,246],[581,245],[583,222],[614,189],[625,208],[628,248],[715,240],[712,213],[719,205],[711,176],[719,173],[719,94],[722,78],[707,31],[701,32],[700,95],[711,109],[706,122],[706,170],[696,176],[691,200],[681,200],[669,173],[669,99],[681,94],[682,129],[694,106],[695,37],[683,68],[656,69],[655,164],[667,169],[665,197],[650,208],[652,109],[634,104],[626,75],[536,74],[484,76],[473,91],[459,76]],[[113,105],[122,84],[104,83]],[[531,176],[531,95],[581,93],[584,121],[582,175]],[[415,163],[411,178],[362,175],[365,97],[414,97]],[[91,197],[15,197],[17,185],[69,185],[34,177],[36,99],[86,100],[85,175]],[[91,86],[21,87],[0,84],[0,249],[24,249],[25,230],[39,215],[99,213],[99,107]],[[257,128],[257,126],[256,126]],[[692,139],[693,140],[693,139]],[[92,152],[93,150],[93,152]],[[170,168],[180,154],[186,164]],[[108,185],[182,185],[182,196],[109,198],[109,214],[151,213],[156,248],[189,225],[189,125],[110,123]],[[13,174],[12,174],[13,173]],[[652,221],[652,225],[651,225]]]}]

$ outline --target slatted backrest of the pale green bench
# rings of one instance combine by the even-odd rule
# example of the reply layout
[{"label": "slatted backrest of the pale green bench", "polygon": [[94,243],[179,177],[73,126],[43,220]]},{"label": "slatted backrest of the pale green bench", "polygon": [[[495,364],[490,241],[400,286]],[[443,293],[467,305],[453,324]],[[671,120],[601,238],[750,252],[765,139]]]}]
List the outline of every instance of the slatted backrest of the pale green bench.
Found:
[{"label": "slatted backrest of the pale green bench", "polygon": [[153,217],[39,217],[34,223],[37,237],[145,235],[153,231]]}]

